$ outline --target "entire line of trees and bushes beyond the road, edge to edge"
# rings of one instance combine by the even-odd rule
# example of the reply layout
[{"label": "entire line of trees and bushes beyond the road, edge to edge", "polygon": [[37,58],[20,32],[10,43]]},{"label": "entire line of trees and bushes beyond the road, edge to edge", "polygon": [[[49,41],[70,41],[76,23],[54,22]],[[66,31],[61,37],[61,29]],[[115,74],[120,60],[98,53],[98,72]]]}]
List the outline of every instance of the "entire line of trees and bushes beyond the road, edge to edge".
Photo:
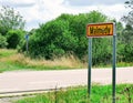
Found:
[{"label": "entire line of trees and bushes beyond the road, edge to edge", "polygon": [[[28,55],[31,58],[52,60],[54,58],[73,54],[82,62],[86,62],[86,24],[115,22],[117,34],[117,62],[133,62],[133,0],[126,1],[125,6],[126,8],[131,8],[129,14],[122,18],[122,21],[125,22],[125,27],[123,27],[122,22],[117,22],[115,19],[111,20],[108,16],[99,11],[80,14],[63,13],[54,20],[40,24],[38,29],[32,29],[29,32]],[[3,9],[7,10],[6,8]],[[8,11],[14,14],[13,9],[9,9]],[[10,16],[10,13],[8,16]],[[3,13],[3,16],[4,14],[6,13]],[[20,52],[25,52],[25,40],[23,39],[25,34],[23,30],[25,22],[19,13],[16,13],[14,18],[14,23],[7,23],[7,29],[2,29],[3,27],[1,27],[1,24],[3,19],[0,13],[0,48],[13,48],[18,49]],[[112,38],[93,39],[92,53],[93,65],[110,63],[112,61]]]}]

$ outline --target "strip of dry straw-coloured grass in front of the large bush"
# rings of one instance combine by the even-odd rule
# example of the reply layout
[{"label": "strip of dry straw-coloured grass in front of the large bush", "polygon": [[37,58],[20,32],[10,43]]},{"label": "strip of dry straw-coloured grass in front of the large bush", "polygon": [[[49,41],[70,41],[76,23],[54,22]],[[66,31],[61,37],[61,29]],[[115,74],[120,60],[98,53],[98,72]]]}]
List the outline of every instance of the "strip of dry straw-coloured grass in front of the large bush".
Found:
[{"label": "strip of dry straw-coloured grass in front of the large bush", "polygon": [[84,64],[81,63],[79,59],[76,59],[73,55],[70,56],[62,56],[60,59],[54,60],[44,60],[44,59],[30,59],[28,56],[24,56],[21,53],[14,53],[9,56],[3,56],[0,59],[1,62],[9,62],[11,64],[18,64],[21,66],[27,68],[68,68],[68,69],[75,69],[75,68],[83,68]]}]

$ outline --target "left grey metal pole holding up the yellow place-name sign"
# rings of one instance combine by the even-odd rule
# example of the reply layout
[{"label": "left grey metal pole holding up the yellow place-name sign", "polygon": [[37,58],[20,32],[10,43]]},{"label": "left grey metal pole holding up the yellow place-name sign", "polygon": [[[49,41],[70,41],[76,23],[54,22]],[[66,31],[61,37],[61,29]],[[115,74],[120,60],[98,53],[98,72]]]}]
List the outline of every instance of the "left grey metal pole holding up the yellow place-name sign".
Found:
[{"label": "left grey metal pole holding up the yellow place-name sign", "polygon": [[92,38],[89,38],[88,93],[91,96]]}]

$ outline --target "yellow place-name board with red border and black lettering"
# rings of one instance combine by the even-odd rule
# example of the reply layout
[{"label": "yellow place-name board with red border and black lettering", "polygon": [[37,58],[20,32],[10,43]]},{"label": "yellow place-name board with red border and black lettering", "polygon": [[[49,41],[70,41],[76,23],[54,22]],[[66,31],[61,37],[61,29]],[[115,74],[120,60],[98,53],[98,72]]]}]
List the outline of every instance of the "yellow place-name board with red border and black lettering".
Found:
[{"label": "yellow place-name board with red border and black lettering", "polygon": [[92,23],[86,27],[86,37],[106,37],[113,35],[113,23]]}]

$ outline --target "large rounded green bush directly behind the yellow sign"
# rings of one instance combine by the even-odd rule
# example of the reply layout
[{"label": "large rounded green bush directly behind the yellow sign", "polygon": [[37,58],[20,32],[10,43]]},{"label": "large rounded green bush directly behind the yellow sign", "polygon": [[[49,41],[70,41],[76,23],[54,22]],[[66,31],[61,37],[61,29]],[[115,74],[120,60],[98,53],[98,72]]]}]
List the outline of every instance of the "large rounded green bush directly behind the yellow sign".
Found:
[{"label": "large rounded green bush directly behind the yellow sign", "polygon": [[[44,56],[44,59],[74,54],[80,60],[86,61],[88,39],[85,37],[85,27],[88,23],[106,21],[108,17],[99,11],[78,16],[61,14],[55,20],[41,24],[34,34],[30,37],[29,54],[34,58]],[[110,39],[93,40],[93,51],[98,51],[93,55],[94,61],[96,61],[94,63],[111,59],[110,47],[106,48],[110,44],[109,41]]]}]

